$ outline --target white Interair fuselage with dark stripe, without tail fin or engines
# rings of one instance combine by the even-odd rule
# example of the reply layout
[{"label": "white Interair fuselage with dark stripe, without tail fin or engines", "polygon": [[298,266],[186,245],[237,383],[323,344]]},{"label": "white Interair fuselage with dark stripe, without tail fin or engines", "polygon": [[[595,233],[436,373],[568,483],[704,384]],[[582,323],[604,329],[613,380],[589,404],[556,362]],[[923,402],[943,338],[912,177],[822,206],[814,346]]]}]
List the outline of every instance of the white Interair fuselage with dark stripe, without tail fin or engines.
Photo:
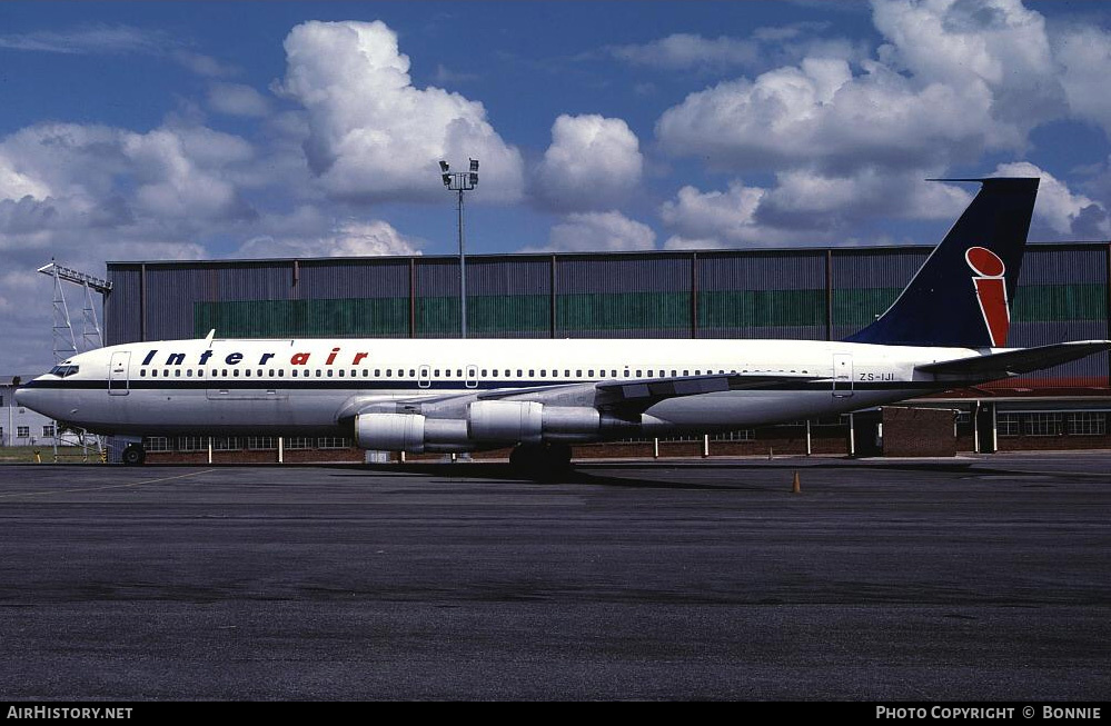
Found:
[{"label": "white Interair fuselage with dark stripe, without tail fin or engines", "polygon": [[[355,415],[376,405],[415,402],[429,417],[450,419],[479,395],[591,407],[598,381],[777,377],[766,386],[669,397],[638,411],[635,426],[665,435],[791,421],[943,390],[953,382],[914,367],[975,355],[796,340],[173,340],[76,356],[60,367],[67,375],[37,378],[19,400],[105,434],[350,436]],[[438,401],[447,402],[437,409]]]}]

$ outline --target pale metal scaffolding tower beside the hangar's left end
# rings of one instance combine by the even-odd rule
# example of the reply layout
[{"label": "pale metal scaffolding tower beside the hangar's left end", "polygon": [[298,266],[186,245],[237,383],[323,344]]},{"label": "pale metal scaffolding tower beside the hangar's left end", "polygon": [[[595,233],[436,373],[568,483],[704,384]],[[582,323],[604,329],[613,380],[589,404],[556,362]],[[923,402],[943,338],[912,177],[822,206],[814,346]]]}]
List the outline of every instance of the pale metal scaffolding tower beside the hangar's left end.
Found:
[{"label": "pale metal scaffolding tower beside the hangar's left end", "polygon": [[[85,289],[85,308],[81,311],[83,327],[81,331],[81,347],[83,350],[93,350],[103,347],[103,335],[100,331],[100,319],[97,316],[97,307],[93,304],[92,291],[101,295],[101,299],[112,289],[112,284],[86,272],[70,269],[58,265],[52,259],[49,265],[39,268],[39,272],[49,275],[54,280],[53,291],[53,356],[54,362],[61,362],[76,356],[79,351],[77,347],[77,336],[73,332],[73,321],[69,317],[69,305],[66,302],[66,290],[62,281],[80,285]],[[100,436],[90,436],[88,431],[78,429],[73,431],[77,437],[76,446],[80,447],[82,458],[88,460],[89,449],[96,448],[100,460],[103,460],[105,440]],[[53,450],[54,461],[58,460],[58,440],[62,431],[54,421]]]}]

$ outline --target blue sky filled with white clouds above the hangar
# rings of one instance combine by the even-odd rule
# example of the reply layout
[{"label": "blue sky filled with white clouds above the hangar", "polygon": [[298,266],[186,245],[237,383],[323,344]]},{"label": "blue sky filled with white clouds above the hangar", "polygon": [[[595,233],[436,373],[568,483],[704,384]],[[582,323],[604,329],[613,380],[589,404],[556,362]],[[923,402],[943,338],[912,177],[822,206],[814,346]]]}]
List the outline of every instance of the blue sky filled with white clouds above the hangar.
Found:
[{"label": "blue sky filled with white clouds above the hangar", "polygon": [[0,372],[51,258],[455,253],[440,159],[468,253],[1111,239],[1108,78],[1103,2],[0,3]]}]

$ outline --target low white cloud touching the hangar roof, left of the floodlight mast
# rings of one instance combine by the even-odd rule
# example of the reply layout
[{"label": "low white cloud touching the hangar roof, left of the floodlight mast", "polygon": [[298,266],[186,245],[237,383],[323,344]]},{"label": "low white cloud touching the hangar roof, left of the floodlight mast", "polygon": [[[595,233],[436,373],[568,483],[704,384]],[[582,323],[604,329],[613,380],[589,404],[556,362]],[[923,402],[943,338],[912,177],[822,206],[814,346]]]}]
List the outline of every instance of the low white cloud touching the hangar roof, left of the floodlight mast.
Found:
[{"label": "low white cloud touching the hangar roof, left of the floodlight mast", "polygon": [[419,255],[416,240],[409,239],[381,220],[348,220],[331,233],[315,239],[256,237],[245,242],[232,257],[378,257]]}]

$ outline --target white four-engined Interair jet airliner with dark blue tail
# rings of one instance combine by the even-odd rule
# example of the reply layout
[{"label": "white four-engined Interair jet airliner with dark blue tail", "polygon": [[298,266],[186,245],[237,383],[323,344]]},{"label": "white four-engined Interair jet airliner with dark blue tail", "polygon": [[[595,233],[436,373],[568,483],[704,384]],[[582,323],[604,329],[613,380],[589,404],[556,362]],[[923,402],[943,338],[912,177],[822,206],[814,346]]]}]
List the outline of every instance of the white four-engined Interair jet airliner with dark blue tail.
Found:
[{"label": "white four-engined Interair jet airliner with dark blue tail", "polygon": [[557,470],[572,444],[850,412],[1111,349],[1006,348],[1036,178],[984,178],[895,302],[841,341],[205,339],[73,356],[16,392],[65,426],[143,436],[343,436],[364,449],[513,447]]}]

